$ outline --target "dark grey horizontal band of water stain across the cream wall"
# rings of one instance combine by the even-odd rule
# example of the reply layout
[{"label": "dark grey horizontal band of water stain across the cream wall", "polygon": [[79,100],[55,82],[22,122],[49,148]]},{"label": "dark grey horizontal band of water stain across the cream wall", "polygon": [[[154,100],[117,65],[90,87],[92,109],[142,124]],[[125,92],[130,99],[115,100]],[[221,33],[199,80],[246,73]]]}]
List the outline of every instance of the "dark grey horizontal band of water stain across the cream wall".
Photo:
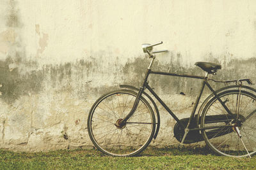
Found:
[{"label": "dark grey horizontal band of water stain across the cream wall", "polygon": [[[176,59],[174,59],[176,60]],[[228,80],[236,78],[252,78],[256,80],[255,77],[255,62],[256,58],[247,60],[230,60],[223,70],[218,71],[216,76],[217,80]],[[97,87],[93,85],[94,76],[104,75],[106,72],[113,73],[112,76],[122,77],[120,82],[115,83],[125,83],[129,85],[134,85],[136,87],[140,86],[145,70],[148,66],[148,58],[137,57],[134,60],[128,61],[125,66],[122,66],[121,71],[116,71],[115,66],[112,66],[113,70],[100,70],[99,62],[96,59],[86,61],[84,59],[77,60],[76,62],[67,62],[65,64],[56,65],[45,65],[42,69],[28,71],[26,74],[20,74],[19,67],[15,67],[10,71],[10,64],[17,63],[18,66],[22,67],[36,67],[38,64],[35,61],[29,61],[24,59],[13,59],[9,57],[4,62],[0,62],[0,80],[3,87],[1,87],[2,97],[6,102],[12,102],[15,99],[19,99],[20,96],[28,95],[29,93],[38,93],[44,90],[45,87],[50,86],[55,90],[75,92],[79,97],[85,97],[86,94],[97,96],[100,92],[107,92],[107,89],[113,89],[109,85],[104,85],[104,82],[99,83]],[[219,62],[220,63],[220,62]],[[248,69],[250,67],[250,69]],[[199,76],[204,76],[204,71],[199,67],[183,67],[182,64],[173,62],[172,57],[170,62],[167,64],[162,64],[156,60],[154,62],[154,70],[166,71],[169,73],[178,74],[194,74]],[[29,70],[29,69],[28,69]],[[108,76],[108,75],[107,75]],[[200,86],[200,80],[195,80],[191,78],[179,78],[173,76],[152,76],[148,79],[151,87],[154,87],[158,92],[164,92],[164,94],[188,94],[195,96],[198,92],[198,87]],[[218,89],[223,86],[221,83],[212,83],[213,87]],[[198,90],[197,90],[198,89]],[[94,94],[95,93],[95,94]],[[88,97],[88,96],[87,96]],[[86,97],[85,97],[86,98]]]}]

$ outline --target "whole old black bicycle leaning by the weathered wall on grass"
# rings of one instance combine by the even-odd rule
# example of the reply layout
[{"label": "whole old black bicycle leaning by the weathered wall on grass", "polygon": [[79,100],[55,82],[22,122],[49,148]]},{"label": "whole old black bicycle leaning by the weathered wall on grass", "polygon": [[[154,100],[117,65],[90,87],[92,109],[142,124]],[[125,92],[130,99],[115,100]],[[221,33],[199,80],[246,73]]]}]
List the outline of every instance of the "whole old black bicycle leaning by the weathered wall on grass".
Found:
[{"label": "whole old black bicycle leaning by the weathered wall on grass", "polygon": [[[181,145],[205,141],[219,155],[251,157],[255,154],[256,96],[253,93],[256,90],[243,85],[252,85],[252,81],[248,78],[227,81],[211,79],[208,75],[215,75],[221,69],[220,64],[212,62],[196,62],[195,65],[206,72],[205,76],[152,71],[151,67],[156,58],[154,54],[167,51],[153,52],[153,46],[162,43],[142,45],[143,52],[149,55],[150,64],[140,89],[120,85],[121,89],[108,92],[95,101],[88,115],[88,134],[93,145],[106,155],[129,157],[138,155],[153,138],[156,139],[160,127],[159,110],[152,97],[145,92],[147,89],[176,120],[173,132]],[[202,80],[189,118],[179,120],[176,117],[148,85],[149,74]],[[208,81],[236,85],[228,85],[215,91]],[[196,114],[205,85],[212,94],[205,99]]]}]

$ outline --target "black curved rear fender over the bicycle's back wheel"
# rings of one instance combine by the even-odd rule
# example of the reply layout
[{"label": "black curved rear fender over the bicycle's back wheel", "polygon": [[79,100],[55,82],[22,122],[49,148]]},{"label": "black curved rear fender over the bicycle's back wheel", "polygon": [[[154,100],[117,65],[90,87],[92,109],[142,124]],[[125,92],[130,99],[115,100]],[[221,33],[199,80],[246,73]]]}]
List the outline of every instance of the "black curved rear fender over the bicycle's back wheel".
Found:
[{"label": "black curved rear fender over the bicycle's back wheel", "polygon": [[[216,94],[220,94],[220,92],[223,92],[225,90],[228,89],[233,89],[233,88],[239,88],[240,85],[229,85],[226,87],[223,87],[221,89],[216,90]],[[252,87],[246,86],[246,85],[242,85],[241,89],[248,89],[248,90],[252,90],[253,92],[256,92],[255,89],[253,89]],[[208,103],[208,101],[210,101],[210,99],[214,97],[214,94],[210,94],[205,100],[204,103],[201,104],[200,109],[198,110],[198,114],[196,115],[196,126],[198,126],[200,124],[200,117],[202,115],[202,110],[204,109],[205,105]]]}]

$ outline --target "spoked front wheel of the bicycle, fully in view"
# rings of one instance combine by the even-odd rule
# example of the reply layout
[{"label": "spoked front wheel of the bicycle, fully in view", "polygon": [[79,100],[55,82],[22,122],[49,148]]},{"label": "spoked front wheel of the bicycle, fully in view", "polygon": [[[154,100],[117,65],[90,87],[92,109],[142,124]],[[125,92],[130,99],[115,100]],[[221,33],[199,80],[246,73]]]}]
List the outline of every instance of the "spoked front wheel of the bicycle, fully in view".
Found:
[{"label": "spoked front wheel of the bicycle, fully in view", "polygon": [[156,119],[143,97],[127,123],[122,127],[116,125],[131,111],[136,96],[131,90],[115,90],[93,104],[88,116],[88,133],[101,152],[111,156],[134,156],[152,140]]}]

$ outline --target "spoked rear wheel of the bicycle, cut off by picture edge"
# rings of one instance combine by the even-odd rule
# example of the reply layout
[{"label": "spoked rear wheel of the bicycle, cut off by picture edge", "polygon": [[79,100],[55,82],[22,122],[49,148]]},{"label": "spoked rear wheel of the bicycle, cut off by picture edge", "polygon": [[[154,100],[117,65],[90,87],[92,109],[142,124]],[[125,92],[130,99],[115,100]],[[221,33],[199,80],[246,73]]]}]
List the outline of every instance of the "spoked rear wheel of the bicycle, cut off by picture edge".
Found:
[{"label": "spoked rear wheel of the bicycle, cut off by picture edge", "polygon": [[[225,103],[234,115],[228,115],[224,107],[221,106],[220,101],[218,101],[218,97],[215,96],[205,105],[202,112],[201,127],[233,124],[234,127],[202,130],[205,143],[219,155],[229,157],[254,155],[256,153],[256,96],[250,92],[241,90],[239,109],[237,108],[238,105],[236,105],[237,101],[239,101],[239,90],[227,90],[221,92],[218,96],[220,96],[221,101]],[[236,113],[236,110],[239,110],[239,114]],[[239,115],[239,118],[237,118],[237,115]],[[219,120],[213,121],[213,117],[218,117]],[[243,141],[239,138],[236,127],[241,132],[241,139]]]}]

